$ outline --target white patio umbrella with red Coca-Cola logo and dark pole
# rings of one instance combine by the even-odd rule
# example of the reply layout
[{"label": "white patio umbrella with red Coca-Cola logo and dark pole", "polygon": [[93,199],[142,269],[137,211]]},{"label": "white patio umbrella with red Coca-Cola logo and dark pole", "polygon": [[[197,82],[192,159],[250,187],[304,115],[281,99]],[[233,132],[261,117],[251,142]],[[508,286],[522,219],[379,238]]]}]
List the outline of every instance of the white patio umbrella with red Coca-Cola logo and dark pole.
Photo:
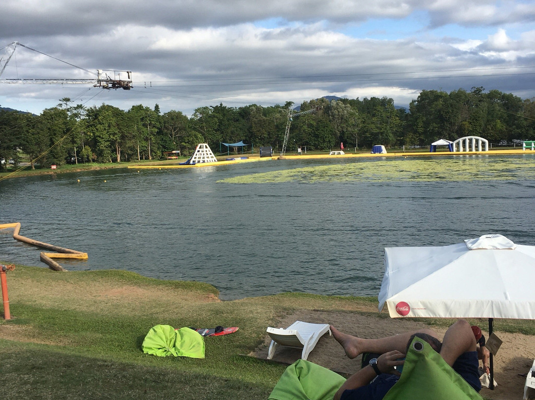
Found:
[{"label": "white patio umbrella with red Coca-Cola logo and dark pole", "polygon": [[[535,246],[483,235],[448,246],[385,248],[379,311],[392,318],[535,319]],[[490,359],[491,389],[493,359]]]}]

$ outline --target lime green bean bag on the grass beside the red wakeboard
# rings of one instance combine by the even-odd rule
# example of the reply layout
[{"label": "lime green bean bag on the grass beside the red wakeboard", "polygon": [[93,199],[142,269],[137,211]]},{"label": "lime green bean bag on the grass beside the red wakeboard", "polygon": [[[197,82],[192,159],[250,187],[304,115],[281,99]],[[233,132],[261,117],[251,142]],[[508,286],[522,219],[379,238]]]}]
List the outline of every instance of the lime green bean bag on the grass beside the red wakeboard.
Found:
[{"label": "lime green bean bag on the grass beside the red wakeboard", "polygon": [[175,330],[169,325],[156,325],[149,330],[141,345],[144,353],[155,356],[204,358],[204,340],[190,328]]}]

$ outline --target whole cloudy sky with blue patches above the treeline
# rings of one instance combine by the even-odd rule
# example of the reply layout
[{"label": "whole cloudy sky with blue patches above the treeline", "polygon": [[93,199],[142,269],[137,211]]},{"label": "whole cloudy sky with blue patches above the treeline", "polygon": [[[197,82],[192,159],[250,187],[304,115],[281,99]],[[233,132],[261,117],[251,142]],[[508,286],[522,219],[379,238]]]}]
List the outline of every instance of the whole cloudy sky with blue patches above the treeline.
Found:
[{"label": "whole cloudy sky with blue patches above the treeline", "polygon": [[[535,97],[532,0],[2,0],[0,106],[162,112],[284,105],[326,95],[407,106],[422,89]],[[68,64],[67,64],[68,63]],[[9,79],[96,79],[131,90]],[[118,71],[118,72],[113,72]],[[120,73],[119,73],[120,72]]]}]

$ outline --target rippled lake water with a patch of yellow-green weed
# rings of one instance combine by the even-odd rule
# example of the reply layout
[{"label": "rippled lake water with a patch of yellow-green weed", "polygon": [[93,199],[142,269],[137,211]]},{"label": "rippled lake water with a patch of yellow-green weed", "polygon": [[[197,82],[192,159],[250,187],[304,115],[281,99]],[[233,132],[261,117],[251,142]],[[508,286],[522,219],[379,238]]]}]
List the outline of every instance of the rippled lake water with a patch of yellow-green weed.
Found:
[{"label": "rippled lake water with a patch of yellow-green weed", "polygon": [[[376,296],[385,247],[535,244],[534,197],[534,155],[269,160],[5,179],[0,223],[86,251],[59,260],[70,271],[203,281],[221,299]],[[0,260],[47,267],[12,234],[0,230]]]}]

